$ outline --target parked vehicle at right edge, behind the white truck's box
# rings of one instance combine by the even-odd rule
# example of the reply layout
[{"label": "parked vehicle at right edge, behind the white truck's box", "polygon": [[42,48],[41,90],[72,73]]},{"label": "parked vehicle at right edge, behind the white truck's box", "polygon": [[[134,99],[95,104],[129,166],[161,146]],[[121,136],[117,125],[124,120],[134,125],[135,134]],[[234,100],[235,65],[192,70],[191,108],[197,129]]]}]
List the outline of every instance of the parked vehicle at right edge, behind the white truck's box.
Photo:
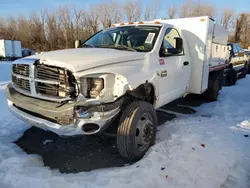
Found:
[{"label": "parked vehicle at right edge, behind the white truck's box", "polygon": [[226,85],[234,85],[237,78],[245,78],[248,72],[248,61],[245,51],[239,44],[228,43]]}]

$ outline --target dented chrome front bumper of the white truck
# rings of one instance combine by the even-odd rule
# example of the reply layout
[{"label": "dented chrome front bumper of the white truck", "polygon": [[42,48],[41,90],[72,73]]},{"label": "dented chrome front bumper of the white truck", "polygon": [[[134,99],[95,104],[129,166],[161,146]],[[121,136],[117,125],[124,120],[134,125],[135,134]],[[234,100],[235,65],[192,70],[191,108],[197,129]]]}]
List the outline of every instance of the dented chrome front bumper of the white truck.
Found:
[{"label": "dented chrome front bumper of the white truck", "polygon": [[[18,118],[28,124],[57,133],[58,135],[92,135],[105,130],[112,120],[120,112],[120,103],[111,103],[111,108],[105,108],[107,111],[93,111],[91,108],[91,117],[76,115],[77,103],[59,103],[43,101],[18,93],[11,84],[6,88],[6,97],[10,111]],[[100,107],[98,106],[98,109]],[[88,108],[81,114],[89,114]],[[60,124],[59,120],[69,120],[69,124]],[[85,126],[96,125],[95,129],[84,129]]]}]

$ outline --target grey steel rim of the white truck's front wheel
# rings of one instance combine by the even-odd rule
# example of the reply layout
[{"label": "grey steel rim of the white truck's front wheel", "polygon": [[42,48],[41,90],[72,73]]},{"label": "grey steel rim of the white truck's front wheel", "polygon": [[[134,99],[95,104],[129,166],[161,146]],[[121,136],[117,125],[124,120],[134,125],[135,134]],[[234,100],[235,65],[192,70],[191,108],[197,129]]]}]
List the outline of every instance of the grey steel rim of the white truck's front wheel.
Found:
[{"label": "grey steel rim of the white truck's front wheel", "polygon": [[139,151],[145,151],[150,146],[154,135],[153,127],[152,117],[147,113],[143,114],[135,132],[135,145]]}]

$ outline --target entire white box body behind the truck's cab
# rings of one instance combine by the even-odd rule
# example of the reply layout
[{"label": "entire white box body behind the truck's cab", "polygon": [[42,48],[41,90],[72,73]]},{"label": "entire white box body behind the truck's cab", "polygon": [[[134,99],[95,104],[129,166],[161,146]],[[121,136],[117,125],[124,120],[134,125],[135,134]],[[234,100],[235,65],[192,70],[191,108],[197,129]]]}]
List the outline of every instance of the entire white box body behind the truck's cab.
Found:
[{"label": "entire white box body behind the truck's cab", "polygon": [[[209,72],[225,65],[228,31],[208,16],[165,21],[181,29],[191,59],[188,92],[201,94],[208,87]],[[215,69],[213,69],[215,70]]]}]

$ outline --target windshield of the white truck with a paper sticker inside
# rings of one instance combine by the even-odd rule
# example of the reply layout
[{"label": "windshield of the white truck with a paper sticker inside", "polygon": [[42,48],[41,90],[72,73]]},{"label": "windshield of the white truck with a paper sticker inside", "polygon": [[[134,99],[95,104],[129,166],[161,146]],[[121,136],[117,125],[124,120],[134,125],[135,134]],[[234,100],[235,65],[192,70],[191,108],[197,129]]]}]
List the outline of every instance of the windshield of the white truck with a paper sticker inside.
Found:
[{"label": "windshield of the white truck with a paper sticker inside", "polygon": [[79,48],[112,48],[149,52],[154,48],[160,26],[124,26],[109,28],[93,35]]}]

